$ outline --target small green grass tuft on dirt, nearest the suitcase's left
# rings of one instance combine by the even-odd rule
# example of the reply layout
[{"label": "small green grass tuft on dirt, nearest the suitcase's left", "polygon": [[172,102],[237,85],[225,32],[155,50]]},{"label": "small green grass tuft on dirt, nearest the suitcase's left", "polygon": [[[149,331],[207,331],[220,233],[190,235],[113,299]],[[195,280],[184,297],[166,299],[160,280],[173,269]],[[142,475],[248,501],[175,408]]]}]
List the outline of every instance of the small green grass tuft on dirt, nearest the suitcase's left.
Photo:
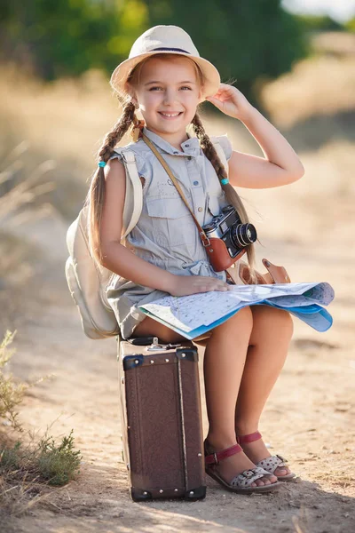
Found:
[{"label": "small green grass tuft on dirt, nearest the suitcase's left", "polygon": [[74,449],[73,430],[58,446],[52,437],[48,437],[39,443],[38,448],[38,471],[50,485],[65,485],[79,473],[82,456],[80,450]]}]

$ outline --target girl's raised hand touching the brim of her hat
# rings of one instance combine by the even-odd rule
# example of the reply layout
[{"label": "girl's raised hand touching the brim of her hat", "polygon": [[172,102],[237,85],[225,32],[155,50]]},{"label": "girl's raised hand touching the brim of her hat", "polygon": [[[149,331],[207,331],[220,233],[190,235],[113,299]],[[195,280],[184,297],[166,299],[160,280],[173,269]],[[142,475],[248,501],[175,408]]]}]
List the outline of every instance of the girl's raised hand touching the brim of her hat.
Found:
[{"label": "girl's raised hand touching the brim of her hat", "polygon": [[220,84],[214,96],[206,98],[214,106],[225,113],[225,115],[238,118],[241,121],[248,119],[253,106],[236,87],[227,84]]}]

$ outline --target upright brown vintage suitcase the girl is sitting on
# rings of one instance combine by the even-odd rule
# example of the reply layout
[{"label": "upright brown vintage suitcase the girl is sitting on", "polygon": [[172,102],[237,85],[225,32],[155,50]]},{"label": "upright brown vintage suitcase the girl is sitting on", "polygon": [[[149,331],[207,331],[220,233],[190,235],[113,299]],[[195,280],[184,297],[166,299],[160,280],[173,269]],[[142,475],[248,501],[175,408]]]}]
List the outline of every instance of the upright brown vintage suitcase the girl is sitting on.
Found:
[{"label": "upright brown vintage suitcase the girl is sitting on", "polygon": [[[123,461],[134,501],[206,496],[198,352],[118,340]],[[138,344],[133,344],[138,343]]]}]

